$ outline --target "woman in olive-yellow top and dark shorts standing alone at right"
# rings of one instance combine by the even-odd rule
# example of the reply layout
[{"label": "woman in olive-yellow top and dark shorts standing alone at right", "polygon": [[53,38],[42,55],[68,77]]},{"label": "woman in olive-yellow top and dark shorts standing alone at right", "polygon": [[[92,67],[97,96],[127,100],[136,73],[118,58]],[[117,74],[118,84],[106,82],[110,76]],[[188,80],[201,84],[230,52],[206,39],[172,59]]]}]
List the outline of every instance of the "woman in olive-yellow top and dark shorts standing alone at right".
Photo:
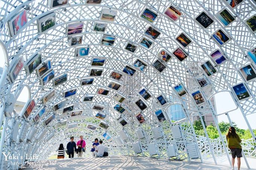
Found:
[{"label": "woman in olive-yellow top and dark shorts standing alone at right", "polygon": [[227,138],[227,146],[231,150],[232,154],[232,170],[234,170],[235,158],[237,157],[237,166],[238,170],[240,170],[241,160],[242,157],[242,146],[241,146],[241,139],[239,135],[236,133],[236,129],[232,126],[229,127],[229,132],[226,134]]}]

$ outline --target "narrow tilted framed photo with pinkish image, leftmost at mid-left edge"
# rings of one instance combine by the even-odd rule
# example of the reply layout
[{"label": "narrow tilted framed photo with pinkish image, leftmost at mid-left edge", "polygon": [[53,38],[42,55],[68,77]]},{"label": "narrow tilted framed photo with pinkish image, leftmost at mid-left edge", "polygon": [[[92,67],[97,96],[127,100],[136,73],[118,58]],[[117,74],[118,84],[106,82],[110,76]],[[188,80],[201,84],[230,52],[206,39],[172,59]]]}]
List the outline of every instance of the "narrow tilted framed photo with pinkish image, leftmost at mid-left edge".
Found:
[{"label": "narrow tilted framed photo with pinkish image, leftmost at mid-left edge", "polygon": [[14,83],[14,81],[20,74],[21,70],[23,69],[23,66],[24,66],[23,57],[18,57],[18,59],[15,61],[14,65],[12,65],[10,72],[8,74],[12,83]]}]

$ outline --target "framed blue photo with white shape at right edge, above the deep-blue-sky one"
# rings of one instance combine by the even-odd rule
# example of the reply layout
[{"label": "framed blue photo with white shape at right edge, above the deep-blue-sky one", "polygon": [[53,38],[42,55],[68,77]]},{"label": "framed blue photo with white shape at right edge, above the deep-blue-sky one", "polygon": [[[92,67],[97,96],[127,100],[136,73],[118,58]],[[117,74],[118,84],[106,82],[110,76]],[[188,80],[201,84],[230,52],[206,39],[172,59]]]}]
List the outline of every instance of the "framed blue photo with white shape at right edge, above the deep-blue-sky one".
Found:
[{"label": "framed blue photo with white shape at right edge, above the deep-blue-sky one", "polygon": [[256,79],[256,71],[251,64],[240,67],[239,71],[247,82],[251,82]]}]

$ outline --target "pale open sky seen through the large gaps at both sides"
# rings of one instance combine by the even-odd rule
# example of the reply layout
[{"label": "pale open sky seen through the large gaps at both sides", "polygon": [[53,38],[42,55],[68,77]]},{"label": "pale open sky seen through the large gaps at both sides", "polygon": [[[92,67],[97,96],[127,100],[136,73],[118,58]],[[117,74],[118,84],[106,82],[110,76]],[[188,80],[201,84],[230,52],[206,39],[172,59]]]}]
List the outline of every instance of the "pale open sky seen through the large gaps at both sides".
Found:
[{"label": "pale open sky seen through the large gaps at both sides", "polygon": [[[2,48],[0,48],[0,54],[1,54],[0,55],[1,56],[0,57],[0,67],[3,67],[3,65],[5,63],[5,59],[3,57]],[[27,99],[28,99],[28,93],[25,88],[25,90],[22,90],[17,101],[27,101]],[[216,104],[217,114],[226,113],[226,112],[229,112],[230,110],[234,110],[236,108],[236,105],[233,102],[233,99],[230,96],[229,92],[217,93],[215,95],[215,104]],[[235,122],[239,128],[248,129],[248,126],[247,126],[245,119],[242,116],[242,113],[239,108],[234,111],[230,111],[229,116],[230,116],[230,119],[233,122]],[[256,123],[254,122],[254,120],[256,120],[256,113],[248,115],[247,120],[250,123],[251,128],[256,129]],[[221,121],[229,122],[229,120],[227,119],[227,116],[225,114],[218,116],[218,122],[221,122]]]}]

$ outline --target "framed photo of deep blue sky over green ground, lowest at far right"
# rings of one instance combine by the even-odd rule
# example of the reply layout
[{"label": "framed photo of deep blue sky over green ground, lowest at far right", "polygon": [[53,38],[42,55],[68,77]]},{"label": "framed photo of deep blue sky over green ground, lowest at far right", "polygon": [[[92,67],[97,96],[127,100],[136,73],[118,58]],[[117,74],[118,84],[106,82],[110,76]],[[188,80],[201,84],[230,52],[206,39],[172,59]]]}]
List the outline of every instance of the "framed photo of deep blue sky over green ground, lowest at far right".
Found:
[{"label": "framed photo of deep blue sky over green ground, lowest at far right", "polygon": [[251,94],[244,83],[238,83],[232,86],[232,90],[238,101],[244,101],[251,97]]}]

